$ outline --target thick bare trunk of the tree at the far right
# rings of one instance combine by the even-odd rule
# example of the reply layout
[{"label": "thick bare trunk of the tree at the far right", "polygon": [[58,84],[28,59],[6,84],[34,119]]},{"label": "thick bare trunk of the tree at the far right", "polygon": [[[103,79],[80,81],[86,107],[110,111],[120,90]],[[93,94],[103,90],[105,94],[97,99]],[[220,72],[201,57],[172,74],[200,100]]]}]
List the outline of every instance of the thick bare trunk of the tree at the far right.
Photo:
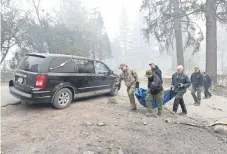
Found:
[{"label": "thick bare trunk of the tree at the far right", "polygon": [[206,0],[206,72],[217,82],[216,0]]}]

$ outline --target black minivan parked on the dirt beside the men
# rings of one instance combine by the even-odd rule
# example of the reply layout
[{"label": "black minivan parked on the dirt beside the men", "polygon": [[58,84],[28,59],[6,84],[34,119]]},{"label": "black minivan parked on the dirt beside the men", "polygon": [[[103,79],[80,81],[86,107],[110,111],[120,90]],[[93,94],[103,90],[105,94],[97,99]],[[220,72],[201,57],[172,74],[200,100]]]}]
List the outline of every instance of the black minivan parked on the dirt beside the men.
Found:
[{"label": "black minivan parked on the dirt beside the men", "polygon": [[24,102],[50,102],[57,109],[73,99],[117,95],[118,75],[106,64],[84,57],[34,53],[25,55],[9,81],[10,93]]}]

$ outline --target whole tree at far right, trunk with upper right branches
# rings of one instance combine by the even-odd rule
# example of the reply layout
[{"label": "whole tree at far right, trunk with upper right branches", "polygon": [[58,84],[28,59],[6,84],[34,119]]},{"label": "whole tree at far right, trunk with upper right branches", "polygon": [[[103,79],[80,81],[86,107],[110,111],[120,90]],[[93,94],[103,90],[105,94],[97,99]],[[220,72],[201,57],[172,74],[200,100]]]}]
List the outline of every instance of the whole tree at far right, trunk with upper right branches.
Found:
[{"label": "whole tree at far right, trunk with upper right branches", "polygon": [[227,1],[206,0],[206,72],[217,82],[217,22],[227,24]]}]

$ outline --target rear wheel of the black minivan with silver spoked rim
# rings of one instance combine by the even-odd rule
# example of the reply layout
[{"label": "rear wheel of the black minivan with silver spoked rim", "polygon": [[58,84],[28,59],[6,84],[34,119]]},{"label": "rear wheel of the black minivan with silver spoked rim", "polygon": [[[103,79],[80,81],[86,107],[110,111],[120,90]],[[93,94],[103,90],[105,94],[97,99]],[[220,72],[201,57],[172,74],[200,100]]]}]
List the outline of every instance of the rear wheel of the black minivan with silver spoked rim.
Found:
[{"label": "rear wheel of the black minivan with silver spoked rim", "polygon": [[56,92],[53,98],[53,106],[56,109],[65,109],[72,103],[72,92],[68,88],[62,88]]}]

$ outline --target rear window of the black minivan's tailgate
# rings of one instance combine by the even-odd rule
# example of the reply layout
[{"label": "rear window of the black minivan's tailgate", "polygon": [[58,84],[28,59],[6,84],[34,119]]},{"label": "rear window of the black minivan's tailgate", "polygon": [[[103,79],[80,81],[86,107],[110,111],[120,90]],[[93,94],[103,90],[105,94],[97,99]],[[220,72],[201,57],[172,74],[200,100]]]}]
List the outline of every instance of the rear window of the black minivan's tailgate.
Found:
[{"label": "rear window of the black minivan's tailgate", "polygon": [[39,72],[39,65],[44,59],[44,57],[39,56],[25,56],[20,60],[17,68],[29,72]]}]

